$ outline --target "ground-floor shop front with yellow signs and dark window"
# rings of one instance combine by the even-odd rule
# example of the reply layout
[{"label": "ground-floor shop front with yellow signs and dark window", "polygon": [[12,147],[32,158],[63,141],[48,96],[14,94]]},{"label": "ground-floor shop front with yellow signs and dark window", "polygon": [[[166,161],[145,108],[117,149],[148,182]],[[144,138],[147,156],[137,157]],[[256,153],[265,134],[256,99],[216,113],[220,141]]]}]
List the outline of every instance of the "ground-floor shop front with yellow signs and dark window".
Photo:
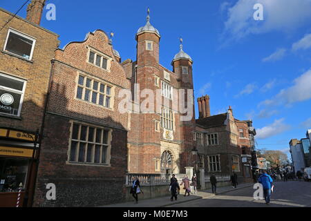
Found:
[{"label": "ground-floor shop front with yellow signs and dark window", "polygon": [[34,184],[37,147],[35,133],[0,128],[0,207],[26,203]]}]

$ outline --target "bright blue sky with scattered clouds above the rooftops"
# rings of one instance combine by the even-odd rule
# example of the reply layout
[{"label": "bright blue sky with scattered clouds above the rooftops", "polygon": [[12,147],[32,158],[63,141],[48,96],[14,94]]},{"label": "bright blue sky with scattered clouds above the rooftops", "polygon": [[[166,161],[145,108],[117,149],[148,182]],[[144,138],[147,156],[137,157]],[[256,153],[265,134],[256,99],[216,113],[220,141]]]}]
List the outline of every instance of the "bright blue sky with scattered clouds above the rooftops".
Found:
[{"label": "bright blue sky with scattered clouds above the rooftops", "polygon": [[[0,7],[16,12],[22,2],[1,0]],[[60,35],[61,47],[96,29],[113,31],[122,60],[135,60],[135,33],[149,6],[162,36],[160,63],[171,68],[182,37],[194,60],[195,95],[210,95],[212,115],[231,105],[236,118],[253,119],[258,148],[285,152],[311,128],[311,0],[47,3],[55,4],[56,21],[44,15],[41,26]],[[253,19],[255,3],[263,21]],[[18,15],[26,17],[26,7]]]}]

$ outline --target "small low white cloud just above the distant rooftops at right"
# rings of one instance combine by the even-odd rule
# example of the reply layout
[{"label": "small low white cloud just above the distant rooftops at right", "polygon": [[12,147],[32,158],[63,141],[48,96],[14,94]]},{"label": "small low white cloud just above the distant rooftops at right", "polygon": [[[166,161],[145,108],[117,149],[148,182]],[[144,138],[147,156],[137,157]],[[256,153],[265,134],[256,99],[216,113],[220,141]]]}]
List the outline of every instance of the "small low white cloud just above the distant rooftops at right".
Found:
[{"label": "small low white cloud just above the distant rooftops at right", "polygon": [[290,126],[284,124],[284,118],[276,119],[273,124],[267,125],[263,128],[256,129],[257,132],[256,138],[263,140],[268,137],[273,137],[275,135],[283,133],[284,131],[288,131],[289,129]]}]

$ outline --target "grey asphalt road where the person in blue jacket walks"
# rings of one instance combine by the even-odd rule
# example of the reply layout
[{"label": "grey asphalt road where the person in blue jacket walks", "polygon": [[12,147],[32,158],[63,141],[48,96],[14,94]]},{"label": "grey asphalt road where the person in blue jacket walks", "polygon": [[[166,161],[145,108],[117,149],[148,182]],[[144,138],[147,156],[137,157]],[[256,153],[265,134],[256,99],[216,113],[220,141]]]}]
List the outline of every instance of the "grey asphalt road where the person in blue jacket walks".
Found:
[{"label": "grey asphalt road where the person in blue jacket walks", "polygon": [[311,182],[275,182],[270,204],[254,200],[253,186],[170,207],[311,207]]}]

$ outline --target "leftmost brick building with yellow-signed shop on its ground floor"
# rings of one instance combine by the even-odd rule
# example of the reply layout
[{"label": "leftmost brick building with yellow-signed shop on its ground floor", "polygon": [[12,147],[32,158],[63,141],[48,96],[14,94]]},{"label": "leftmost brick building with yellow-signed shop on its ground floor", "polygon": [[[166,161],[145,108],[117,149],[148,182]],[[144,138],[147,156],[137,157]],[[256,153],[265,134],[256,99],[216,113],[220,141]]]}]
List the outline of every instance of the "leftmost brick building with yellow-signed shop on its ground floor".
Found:
[{"label": "leftmost brick building with yellow-signed shop on its ground floor", "polygon": [[[30,205],[58,35],[39,26],[44,1],[27,19],[0,8],[0,206]],[[9,21],[9,22],[8,22]]]}]

